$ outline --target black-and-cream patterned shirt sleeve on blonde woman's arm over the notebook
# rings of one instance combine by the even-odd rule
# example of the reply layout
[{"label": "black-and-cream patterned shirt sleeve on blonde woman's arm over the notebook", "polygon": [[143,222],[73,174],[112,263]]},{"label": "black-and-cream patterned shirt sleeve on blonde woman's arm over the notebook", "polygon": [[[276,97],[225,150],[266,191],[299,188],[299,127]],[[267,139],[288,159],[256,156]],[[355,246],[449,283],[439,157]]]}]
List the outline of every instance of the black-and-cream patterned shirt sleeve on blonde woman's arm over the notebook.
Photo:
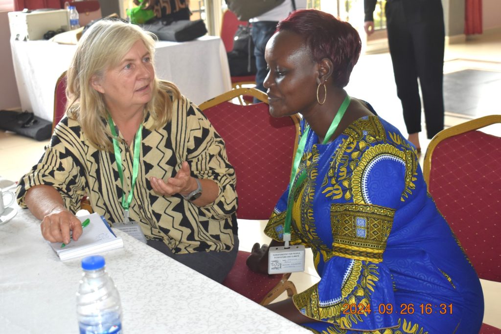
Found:
[{"label": "black-and-cream patterned shirt sleeve on blonde woman's arm over the notebook", "polygon": [[21,207],[27,207],[25,195],[30,188],[48,185],[61,194],[66,208],[74,213],[80,210],[80,200],[86,189],[85,169],[77,149],[81,141],[78,133],[72,131],[75,128],[66,126],[67,122],[65,119],[58,124],[38,164],[19,181],[16,193]]}]

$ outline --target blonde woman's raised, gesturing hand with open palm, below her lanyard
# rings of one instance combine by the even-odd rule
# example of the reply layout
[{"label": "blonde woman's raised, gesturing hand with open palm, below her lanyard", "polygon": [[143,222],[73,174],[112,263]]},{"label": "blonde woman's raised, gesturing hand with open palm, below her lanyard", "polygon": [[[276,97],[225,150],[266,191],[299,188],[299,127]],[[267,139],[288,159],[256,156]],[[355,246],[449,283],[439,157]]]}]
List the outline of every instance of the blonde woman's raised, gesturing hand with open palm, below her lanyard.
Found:
[{"label": "blonde woman's raised, gesturing hand with open palm, below her lanyard", "polygon": [[181,169],[174,177],[169,177],[167,181],[150,177],[150,183],[153,190],[163,196],[174,194],[186,196],[198,187],[195,179],[191,177],[189,164],[186,161],[181,164]]}]

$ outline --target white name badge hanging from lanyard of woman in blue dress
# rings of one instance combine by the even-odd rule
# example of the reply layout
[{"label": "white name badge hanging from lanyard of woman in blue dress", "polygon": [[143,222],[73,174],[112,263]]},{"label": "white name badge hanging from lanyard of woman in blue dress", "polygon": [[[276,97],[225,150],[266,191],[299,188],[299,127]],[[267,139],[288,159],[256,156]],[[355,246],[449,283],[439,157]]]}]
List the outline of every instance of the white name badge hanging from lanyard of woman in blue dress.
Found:
[{"label": "white name badge hanging from lanyard of woman in blue dress", "polygon": [[286,272],[305,271],[305,246],[292,245],[270,247],[268,256],[268,273],[282,274]]}]

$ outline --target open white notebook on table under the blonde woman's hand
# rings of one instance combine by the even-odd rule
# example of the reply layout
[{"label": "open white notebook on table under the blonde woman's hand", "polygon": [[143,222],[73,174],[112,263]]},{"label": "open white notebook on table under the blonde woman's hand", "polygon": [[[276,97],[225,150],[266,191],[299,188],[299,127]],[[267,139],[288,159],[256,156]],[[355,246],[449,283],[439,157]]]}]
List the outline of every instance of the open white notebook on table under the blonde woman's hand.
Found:
[{"label": "open white notebook on table under the blonde woman's hand", "polygon": [[78,217],[82,222],[87,218],[90,219],[90,223],[83,228],[82,235],[77,241],[71,239],[70,243],[64,247],[61,247],[61,242],[50,243],[62,261],[124,246],[122,238],[117,237],[112,232],[108,223],[101,216],[92,213]]}]

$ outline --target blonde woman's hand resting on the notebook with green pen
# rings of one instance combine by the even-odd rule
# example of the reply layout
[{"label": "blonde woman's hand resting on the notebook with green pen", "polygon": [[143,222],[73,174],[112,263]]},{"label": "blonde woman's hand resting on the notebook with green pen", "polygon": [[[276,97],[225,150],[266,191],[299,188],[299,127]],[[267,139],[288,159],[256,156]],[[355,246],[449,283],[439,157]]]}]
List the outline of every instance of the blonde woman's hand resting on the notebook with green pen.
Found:
[{"label": "blonde woman's hand resting on the notebook with green pen", "polygon": [[77,241],[82,235],[82,222],[68,209],[56,207],[40,225],[44,239],[50,242],[70,243],[70,231],[73,231],[73,240]]}]

